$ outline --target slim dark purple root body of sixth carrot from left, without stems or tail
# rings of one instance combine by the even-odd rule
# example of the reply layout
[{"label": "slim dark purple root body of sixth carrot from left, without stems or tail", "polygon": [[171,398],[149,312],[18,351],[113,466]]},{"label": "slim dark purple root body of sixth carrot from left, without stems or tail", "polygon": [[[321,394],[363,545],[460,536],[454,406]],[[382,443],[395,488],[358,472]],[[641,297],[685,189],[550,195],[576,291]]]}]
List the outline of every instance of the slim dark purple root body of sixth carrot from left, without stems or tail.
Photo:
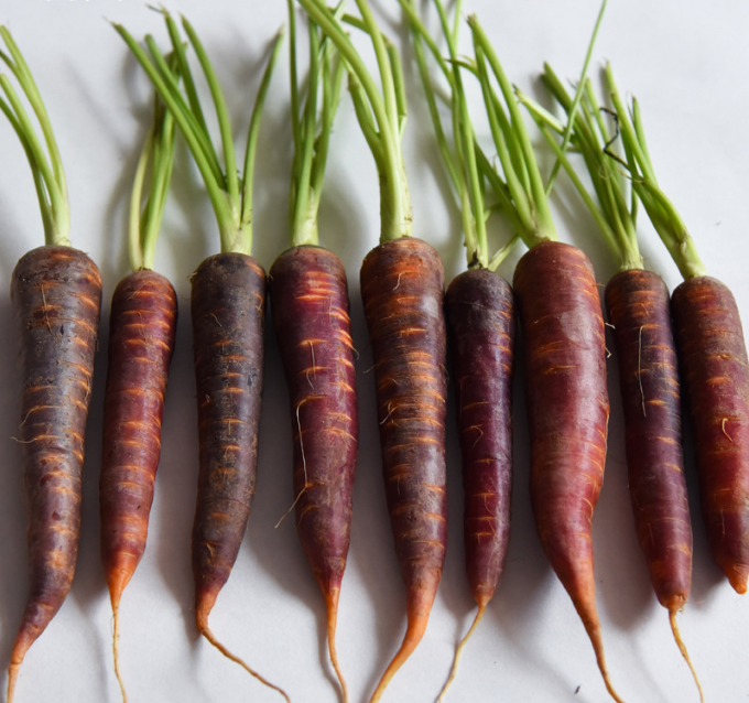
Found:
[{"label": "slim dark purple root body of sixth carrot from left, without stems or tail", "polygon": [[445,318],[463,453],[466,573],[480,606],[495,594],[510,537],[512,289],[491,271],[465,271],[447,288]]}]

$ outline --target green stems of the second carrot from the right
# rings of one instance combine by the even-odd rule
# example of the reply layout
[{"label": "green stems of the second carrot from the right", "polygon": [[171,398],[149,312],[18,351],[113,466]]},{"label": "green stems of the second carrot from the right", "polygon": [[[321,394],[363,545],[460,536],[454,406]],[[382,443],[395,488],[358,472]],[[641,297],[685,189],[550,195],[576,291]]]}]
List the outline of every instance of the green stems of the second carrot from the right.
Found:
[{"label": "green stems of the second carrot from the right", "polygon": [[[642,257],[637,240],[638,196],[630,192],[628,203],[627,186],[623,174],[606,155],[616,137],[609,134],[601,108],[596,100],[590,79],[584,83],[580,93],[579,110],[574,119],[569,116],[574,109],[573,98],[549,64],[544,65],[543,82],[556,101],[567,113],[572,125],[571,145],[583,156],[594,195],[591,195],[577,175],[567,158],[564,144],[560,144],[552,132],[565,133],[565,126],[538,102],[520,90],[515,90],[519,100],[528,108],[541,133],[556,154],[560,163],[569,175],[586,207],[590,210],[604,240],[619,259],[621,270],[642,269]],[[597,201],[597,203],[596,203]]]}]

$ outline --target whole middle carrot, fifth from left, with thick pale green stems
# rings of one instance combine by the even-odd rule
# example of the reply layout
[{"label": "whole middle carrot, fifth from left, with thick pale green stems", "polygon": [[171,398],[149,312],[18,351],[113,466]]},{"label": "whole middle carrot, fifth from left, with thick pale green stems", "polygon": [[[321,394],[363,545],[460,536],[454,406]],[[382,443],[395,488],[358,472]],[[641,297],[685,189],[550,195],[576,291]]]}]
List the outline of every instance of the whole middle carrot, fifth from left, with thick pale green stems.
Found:
[{"label": "whole middle carrot, fifth from left, with thick pale green stems", "polygon": [[374,357],[374,381],[388,511],[406,587],[401,648],[370,701],[421,641],[442,574],[446,542],[444,274],[433,247],[411,237],[411,202],[401,153],[405,91],[400,58],[365,0],[361,19],[346,20],[369,34],[380,69],[380,91],[361,57],[322,0],[301,0],[349,66],[349,89],[381,188],[380,246],[360,271],[361,298]]}]

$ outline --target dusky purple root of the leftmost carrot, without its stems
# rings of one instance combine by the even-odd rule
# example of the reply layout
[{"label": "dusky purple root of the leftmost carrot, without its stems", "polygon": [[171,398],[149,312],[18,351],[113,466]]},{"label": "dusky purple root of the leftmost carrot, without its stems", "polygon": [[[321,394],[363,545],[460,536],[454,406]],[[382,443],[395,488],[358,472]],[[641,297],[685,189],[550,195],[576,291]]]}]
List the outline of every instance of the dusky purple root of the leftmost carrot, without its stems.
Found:
[{"label": "dusky purple root of the leftmost carrot, without its stems", "polygon": [[29,515],[29,601],[11,655],[18,669],[73,582],[101,277],[83,251],[39,247],[18,262],[10,295],[21,337],[18,440]]}]

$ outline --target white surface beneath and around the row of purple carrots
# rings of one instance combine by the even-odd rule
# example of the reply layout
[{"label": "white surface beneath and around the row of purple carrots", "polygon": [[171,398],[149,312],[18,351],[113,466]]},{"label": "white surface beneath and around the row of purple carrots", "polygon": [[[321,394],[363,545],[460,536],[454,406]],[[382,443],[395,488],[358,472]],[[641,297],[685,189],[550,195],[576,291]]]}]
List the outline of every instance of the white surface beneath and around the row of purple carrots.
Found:
[{"label": "white surface beneath and around the row of purple carrots", "polygon": [[[354,3],[351,3],[354,4]],[[243,149],[261,60],[285,20],[281,0],[173,0],[198,29],[226,89]],[[597,0],[466,0],[496,42],[511,79],[539,96],[544,60],[576,77]],[[394,0],[378,17],[399,22]],[[101,268],[105,281],[101,352],[87,432],[84,529],[73,590],[21,670],[18,703],[118,701],[110,657],[111,615],[99,560],[98,473],[108,301],[127,273],[126,199],[148,128],[151,93],[124,44],[105,22],[120,21],[164,45],[160,17],[133,0],[26,0],[0,4],[25,52],[56,130],[68,176],[72,239]],[[728,283],[749,315],[746,229],[749,172],[749,4],[680,0],[611,0],[599,36],[594,75],[614,62],[620,88],[637,93],[659,179],[688,223],[710,273]],[[395,32],[394,25],[390,31]],[[401,37],[402,39],[402,37]],[[370,61],[368,45],[357,45]],[[410,82],[406,169],[414,234],[438,247],[447,279],[465,267],[460,220],[427,122],[408,43]],[[284,52],[268,99],[256,176],[256,253],[270,268],[286,247],[291,153]],[[476,101],[478,112],[480,104]],[[12,268],[43,241],[33,184],[10,127],[0,122],[0,669],[10,658],[26,588],[25,518],[21,498],[15,334],[7,295]],[[563,240],[589,251],[601,282],[615,272],[589,217],[564,175],[554,197]],[[379,196],[371,158],[347,95],[330,147],[321,241],[344,260],[350,277],[354,339],[361,352],[360,459],[338,649],[352,701],[367,700],[394,653],[404,627],[404,591],[384,506],[371,366],[358,286],[363,255],[379,237]],[[648,263],[673,288],[679,273],[654,232],[641,224]],[[187,277],[218,250],[218,232],[195,169],[178,148],[156,269],[174,282],[182,305],[164,421],[149,545],[122,601],[122,671],[130,700],[140,702],[265,701],[281,699],[199,640],[193,624],[189,532],[197,474],[196,411],[188,324]],[[518,255],[521,252],[519,251]],[[511,277],[517,257],[502,267]],[[270,326],[269,326],[270,331]],[[295,702],[336,701],[323,635],[324,608],[298,545],[293,520],[274,529],[292,501],[291,429],[275,342],[267,339],[265,396],[258,493],[245,543],[211,615],[225,643]],[[621,411],[614,359],[610,451],[606,485],[594,520],[598,607],[615,685],[628,702],[681,703],[697,693],[673,643],[666,613],[652,593],[636,542],[627,495]],[[518,387],[520,390],[520,388]],[[451,407],[452,411],[452,407]],[[542,553],[528,500],[528,434],[522,394],[515,403],[515,484],[510,553],[503,581],[468,647],[452,701],[597,703],[607,694],[571,602]],[[451,666],[456,639],[474,607],[464,576],[462,488],[454,415],[448,433],[451,528],[444,578],[426,636],[392,682],[387,701],[433,701]],[[694,517],[694,583],[680,617],[708,701],[749,700],[746,653],[749,602],[713,564],[698,519],[694,467],[687,450]],[[4,677],[0,679],[4,690]]]}]

